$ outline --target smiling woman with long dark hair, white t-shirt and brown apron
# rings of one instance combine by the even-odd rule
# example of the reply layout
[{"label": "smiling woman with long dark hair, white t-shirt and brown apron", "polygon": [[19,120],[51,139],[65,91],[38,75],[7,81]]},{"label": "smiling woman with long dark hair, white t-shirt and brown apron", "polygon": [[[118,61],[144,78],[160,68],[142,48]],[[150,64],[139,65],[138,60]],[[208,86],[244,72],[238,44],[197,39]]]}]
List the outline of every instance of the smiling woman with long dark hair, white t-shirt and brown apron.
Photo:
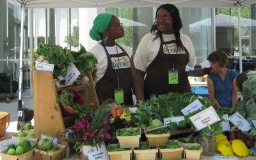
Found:
[{"label": "smiling woman with long dark hair, white t-shirt and brown apron", "polygon": [[134,56],[145,99],[152,94],[191,92],[185,69],[195,66],[195,50],[190,38],[180,33],[181,28],[176,6],[163,4],[157,8],[151,32],[142,38]]}]

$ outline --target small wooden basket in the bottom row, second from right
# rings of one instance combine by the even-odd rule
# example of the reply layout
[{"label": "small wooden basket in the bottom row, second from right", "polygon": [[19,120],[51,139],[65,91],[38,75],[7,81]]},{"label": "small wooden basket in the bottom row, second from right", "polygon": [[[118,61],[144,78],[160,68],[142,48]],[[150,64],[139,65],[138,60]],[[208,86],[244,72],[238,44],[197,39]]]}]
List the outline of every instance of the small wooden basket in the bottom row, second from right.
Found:
[{"label": "small wooden basket in the bottom row, second from right", "polygon": [[[169,142],[172,140],[169,140]],[[180,143],[178,140],[174,140],[176,143],[179,143],[180,148],[177,149],[161,149],[161,147],[158,147],[159,154],[162,160],[168,160],[170,157],[175,160],[181,160],[182,154],[183,154],[183,146],[182,143]]]}]

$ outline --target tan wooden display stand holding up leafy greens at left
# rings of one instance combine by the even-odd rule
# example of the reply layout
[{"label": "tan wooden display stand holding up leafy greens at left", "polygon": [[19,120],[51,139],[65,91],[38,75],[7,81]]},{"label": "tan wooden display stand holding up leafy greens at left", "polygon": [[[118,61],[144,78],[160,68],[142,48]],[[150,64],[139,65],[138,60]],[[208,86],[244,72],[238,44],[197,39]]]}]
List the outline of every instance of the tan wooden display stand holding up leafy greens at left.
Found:
[{"label": "tan wooden display stand holding up leafy greens at left", "polygon": [[[34,127],[35,138],[40,139],[41,135],[54,137],[58,131],[65,131],[67,127],[74,126],[76,117],[73,115],[63,117],[59,103],[56,101],[57,91],[72,87],[67,85],[56,89],[51,71],[31,71],[33,85],[33,105],[34,105]],[[99,101],[93,85],[92,74],[88,76],[88,85],[72,87],[79,91],[84,98],[90,99],[95,106],[99,106]],[[45,87],[47,86],[47,87]],[[44,122],[44,123],[42,123]],[[70,146],[66,143],[67,151],[65,157],[70,157]]]}]

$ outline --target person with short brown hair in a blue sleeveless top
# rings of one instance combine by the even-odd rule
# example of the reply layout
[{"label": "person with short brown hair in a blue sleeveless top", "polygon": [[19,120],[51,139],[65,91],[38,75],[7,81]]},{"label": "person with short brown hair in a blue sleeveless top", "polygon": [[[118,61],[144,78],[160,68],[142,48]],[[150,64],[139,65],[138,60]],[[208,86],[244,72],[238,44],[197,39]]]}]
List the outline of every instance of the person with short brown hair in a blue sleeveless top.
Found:
[{"label": "person with short brown hair in a blue sleeveless top", "polygon": [[215,71],[207,76],[209,98],[215,108],[232,107],[237,101],[236,71],[227,69],[228,56],[218,50],[208,55],[207,60]]}]

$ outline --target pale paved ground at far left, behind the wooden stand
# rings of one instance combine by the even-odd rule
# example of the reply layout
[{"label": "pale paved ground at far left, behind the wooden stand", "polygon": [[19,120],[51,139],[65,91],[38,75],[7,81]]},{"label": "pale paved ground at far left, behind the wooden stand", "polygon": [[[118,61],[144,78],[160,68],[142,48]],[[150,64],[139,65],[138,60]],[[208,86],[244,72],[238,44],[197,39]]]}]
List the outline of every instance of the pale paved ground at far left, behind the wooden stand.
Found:
[{"label": "pale paved ground at far left, behind the wooden stand", "polygon": [[[33,109],[33,98],[23,98],[22,107]],[[6,103],[4,98],[0,98],[0,112],[10,112],[10,126],[6,129],[6,132],[17,132],[17,122],[18,122],[18,99],[10,99],[9,103]],[[31,120],[33,124],[34,121]]]}]

